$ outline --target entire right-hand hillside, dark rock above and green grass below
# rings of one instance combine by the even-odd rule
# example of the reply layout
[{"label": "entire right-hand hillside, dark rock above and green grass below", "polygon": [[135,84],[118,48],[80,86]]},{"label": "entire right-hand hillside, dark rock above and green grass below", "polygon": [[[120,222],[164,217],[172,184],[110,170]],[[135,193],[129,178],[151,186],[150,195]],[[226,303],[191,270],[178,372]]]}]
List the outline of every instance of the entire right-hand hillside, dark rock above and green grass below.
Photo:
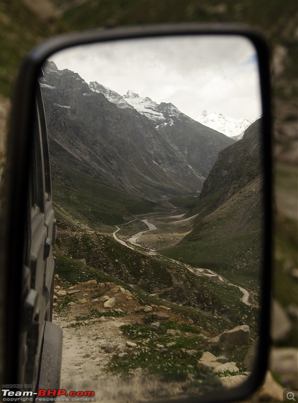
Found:
[{"label": "entire right-hand hillside, dark rock above and green grass below", "polygon": [[259,286],[262,261],[260,119],[219,153],[204,182],[193,229],[162,253],[215,270],[238,284]]}]

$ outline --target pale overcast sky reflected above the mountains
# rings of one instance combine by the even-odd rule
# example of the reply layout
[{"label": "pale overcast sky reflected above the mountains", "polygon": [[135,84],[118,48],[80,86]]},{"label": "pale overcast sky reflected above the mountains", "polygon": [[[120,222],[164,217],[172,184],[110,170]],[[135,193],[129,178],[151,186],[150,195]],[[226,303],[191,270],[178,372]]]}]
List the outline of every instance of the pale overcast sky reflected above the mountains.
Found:
[{"label": "pale overcast sky reflected above the mountains", "polygon": [[51,57],[120,95],[128,90],[172,102],[197,118],[202,110],[236,119],[261,114],[255,49],[237,36],[133,39],[76,46]]}]

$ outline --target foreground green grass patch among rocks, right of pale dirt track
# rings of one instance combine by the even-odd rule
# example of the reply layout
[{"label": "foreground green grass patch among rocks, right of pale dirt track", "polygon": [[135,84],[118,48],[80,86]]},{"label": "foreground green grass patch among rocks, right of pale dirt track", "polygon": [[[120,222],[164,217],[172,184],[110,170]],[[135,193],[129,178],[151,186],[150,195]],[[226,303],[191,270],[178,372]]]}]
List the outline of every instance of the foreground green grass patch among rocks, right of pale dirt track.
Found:
[{"label": "foreground green grass patch among rocks, right of pale dirt track", "polygon": [[[172,337],[166,333],[168,328],[179,329],[181,333]],[[195,380],[199,380],[203,388],[219,385],[214,375],[196,367],[208,347],[198,337],[194,326],[169,321],[162,322],[158,329],[151,328],[149,324],[134,323],[121,326],[121,330],[137,347],[123,358],[114,355],[107,367],[109,371],[129,376],[134,369],[142,368],[148,374],[159,375],[163,381],[181,381],[190,386],[191,382],[196,384]]]}]

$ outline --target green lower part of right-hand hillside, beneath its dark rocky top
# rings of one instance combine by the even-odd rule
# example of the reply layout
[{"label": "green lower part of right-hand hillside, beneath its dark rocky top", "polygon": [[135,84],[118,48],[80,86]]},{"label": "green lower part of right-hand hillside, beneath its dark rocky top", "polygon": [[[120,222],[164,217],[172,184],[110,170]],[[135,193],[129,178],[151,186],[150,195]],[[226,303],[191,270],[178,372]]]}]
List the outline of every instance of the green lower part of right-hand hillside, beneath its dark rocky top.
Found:
[{"label": "green lower part of right-hand hillside, beneath its dark rocky top", "polygon": [[[175,247],[161,251],[166,256],[205,267],[252,289],[258,289],[261,239],[260,209],[252,208],[260,183],[256,180],[236,193],[232,200],[214,212],[210,205],[214,194],[202,199],[195,228]],[[254,190],[253,190],[254,189]],[[216,194],[215,194],[216,197]]]}]

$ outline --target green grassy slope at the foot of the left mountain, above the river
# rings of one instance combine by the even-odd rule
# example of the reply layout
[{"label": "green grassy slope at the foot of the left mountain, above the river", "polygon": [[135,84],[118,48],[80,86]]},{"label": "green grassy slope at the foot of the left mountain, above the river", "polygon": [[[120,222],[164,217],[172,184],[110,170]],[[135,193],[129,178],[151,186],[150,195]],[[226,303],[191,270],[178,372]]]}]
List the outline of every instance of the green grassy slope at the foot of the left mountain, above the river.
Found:
[{"label": "green grassy slope at the foot of the left mountain, above the river", "polygon": [[107,186],[60,163],[62,166],[63,171],[57,165],[52,165],[54,202],[94,230],[99,230],[102,225],[124,224],[133,220],[135,214],[145,214],[156,207],[153,201]]}]

